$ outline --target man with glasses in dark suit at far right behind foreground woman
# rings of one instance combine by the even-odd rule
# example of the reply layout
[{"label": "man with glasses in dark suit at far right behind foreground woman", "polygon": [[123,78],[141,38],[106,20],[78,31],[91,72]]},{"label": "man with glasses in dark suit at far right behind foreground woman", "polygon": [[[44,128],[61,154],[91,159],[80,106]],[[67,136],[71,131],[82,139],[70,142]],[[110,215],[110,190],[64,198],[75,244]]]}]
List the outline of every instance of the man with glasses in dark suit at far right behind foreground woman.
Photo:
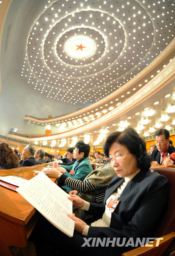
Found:
[{"label": "man with glasses in dark suit at far right behind foreground woman", "polygon": [[162,165],[163,158],[175,152],[175,147],[169,145],[169,131],[159,129],[155,132],[155,144],[157,148],[152,151],[151,165]]}]

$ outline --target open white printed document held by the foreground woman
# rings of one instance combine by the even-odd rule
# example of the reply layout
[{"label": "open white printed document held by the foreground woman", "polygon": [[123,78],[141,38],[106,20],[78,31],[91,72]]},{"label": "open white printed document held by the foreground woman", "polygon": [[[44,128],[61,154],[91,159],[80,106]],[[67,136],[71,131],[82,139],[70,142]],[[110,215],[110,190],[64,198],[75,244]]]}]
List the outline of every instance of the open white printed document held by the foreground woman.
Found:
[{"label": "open white printed document held by the foreground woman", "polygon": [[72,202],[67,198],[68,194],[43,172],[16,191],[55,227],[66,235],[73,236],[74,221],[67,216],[72,215]]}]

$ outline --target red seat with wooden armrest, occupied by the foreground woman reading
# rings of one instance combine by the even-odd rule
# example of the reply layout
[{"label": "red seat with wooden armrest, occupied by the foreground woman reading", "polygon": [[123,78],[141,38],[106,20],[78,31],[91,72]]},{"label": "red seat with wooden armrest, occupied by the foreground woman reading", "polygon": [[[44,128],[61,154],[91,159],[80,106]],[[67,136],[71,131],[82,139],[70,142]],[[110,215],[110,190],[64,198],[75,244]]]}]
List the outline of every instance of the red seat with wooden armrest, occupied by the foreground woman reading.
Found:
[{"label": "red seat with wooden armrest, occupied by the foreground woman reading", "polygon": [[[169,201],[166,209],[165,216],[161,221],[158,229],[155,232],[155,237],[159,237],[161,234],[163,240],[160,240],[158,247],[155,246],[156,240],[153,243],[153,247],[138,247],[134,250],[130,250],[126,253],[122,253],[122,256],[168,256],[175,250],[175,169],[166,167],[152,167],[152,172],[158,172],[161,175],[166,176],[169,180]],[[174,241],[173,241],[174,239]],[[169,246],[170,244],[170,246]],[[169,247],[169,249],[167,249]],[[169,250],[169,254],[166,254],[165,250]],[[164,254],[163,254],[164,253]]]}]

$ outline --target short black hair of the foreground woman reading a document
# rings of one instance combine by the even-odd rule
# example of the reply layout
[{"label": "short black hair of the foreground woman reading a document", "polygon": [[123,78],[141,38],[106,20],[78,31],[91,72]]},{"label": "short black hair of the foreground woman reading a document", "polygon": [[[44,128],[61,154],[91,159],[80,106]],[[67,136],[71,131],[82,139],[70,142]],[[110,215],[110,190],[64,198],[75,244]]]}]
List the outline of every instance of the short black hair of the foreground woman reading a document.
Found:
[{"label": "short black hair of the foreground woman reading a document", "polygon": [[115,131],[110,134],[103,147],[104,154],[109,157],[109,148],[116,142],[128,148],[131,154],[134,154],[138,167],[146,171],[151,166],[151,159],[146,151],[146,143],[139,137],[133,128],[127,128],[124,131]]}]

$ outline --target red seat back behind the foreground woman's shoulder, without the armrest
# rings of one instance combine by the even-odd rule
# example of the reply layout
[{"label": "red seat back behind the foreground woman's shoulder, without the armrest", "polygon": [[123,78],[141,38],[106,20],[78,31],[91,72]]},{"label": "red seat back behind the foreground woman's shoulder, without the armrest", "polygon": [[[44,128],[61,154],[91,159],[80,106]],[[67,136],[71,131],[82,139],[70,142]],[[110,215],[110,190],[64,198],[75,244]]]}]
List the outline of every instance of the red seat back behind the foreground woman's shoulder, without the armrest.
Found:
[{"label": "red seat back behind the foreground woman's shoulder, without the armrest", "polygon": [[166,167],[152,167],[153,172],[164,175],[169,181],[169,201],[164,218],[155,232],[155,237],[164,236],[175,230],[175,169]]}]

